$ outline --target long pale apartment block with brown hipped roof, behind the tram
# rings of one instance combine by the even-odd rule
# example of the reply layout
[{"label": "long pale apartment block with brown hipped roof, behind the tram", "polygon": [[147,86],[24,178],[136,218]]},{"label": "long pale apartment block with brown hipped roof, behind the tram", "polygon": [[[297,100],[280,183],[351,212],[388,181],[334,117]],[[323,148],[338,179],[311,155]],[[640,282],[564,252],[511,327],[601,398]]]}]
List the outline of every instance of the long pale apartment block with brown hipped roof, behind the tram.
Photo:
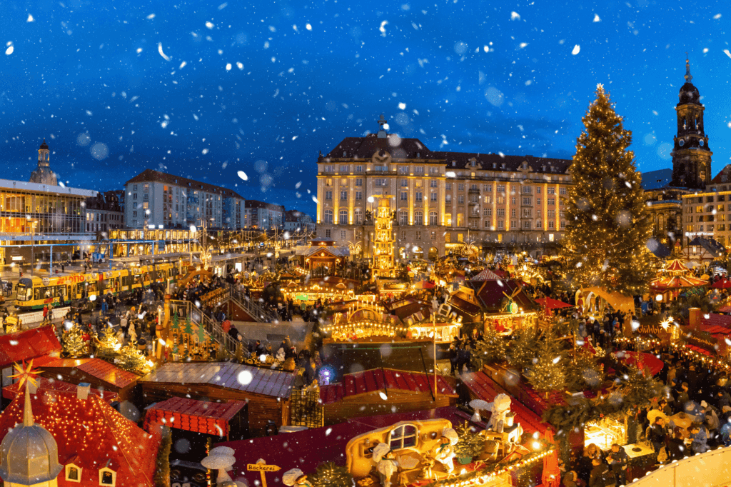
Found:
[{"label": "long pale apartment block with brown hipped roof, behind the tram", "polygon": [[128,228],[202,227],[205,222],[211,229],[238,230],[244,221],[243,197],[221,186],[151,169],[124,186]]}]

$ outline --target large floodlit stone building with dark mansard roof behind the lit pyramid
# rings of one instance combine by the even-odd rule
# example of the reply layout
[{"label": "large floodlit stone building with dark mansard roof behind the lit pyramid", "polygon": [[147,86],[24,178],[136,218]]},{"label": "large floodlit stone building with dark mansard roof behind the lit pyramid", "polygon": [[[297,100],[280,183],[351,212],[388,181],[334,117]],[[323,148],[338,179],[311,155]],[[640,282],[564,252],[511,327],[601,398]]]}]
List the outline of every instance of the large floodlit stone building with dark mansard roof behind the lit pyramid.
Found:
[{"label": "large floodlit stone building with dark mansard roof behind the lit pyramid", "polygon": [[317,233],[371,257],[379,195],[390,195],[395,252],[436,258],[474,243],[539,249],[564,235],[571,161],[439,152],[381,129],[317,160]]}]

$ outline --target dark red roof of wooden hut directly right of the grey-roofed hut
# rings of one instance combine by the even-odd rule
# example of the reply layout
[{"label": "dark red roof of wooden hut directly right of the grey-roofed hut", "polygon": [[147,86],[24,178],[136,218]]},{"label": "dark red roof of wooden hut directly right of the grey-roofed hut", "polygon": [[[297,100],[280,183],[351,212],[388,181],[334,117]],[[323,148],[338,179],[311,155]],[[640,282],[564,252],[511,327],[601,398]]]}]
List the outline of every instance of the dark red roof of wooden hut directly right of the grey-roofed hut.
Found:
[{"label": "dark red roof of wooden hut directly right of the grey-roofed hut", "polygon": [[[430,393],[433,390],[433,375],[392,369],[372,369],[355,374],[345,374],[342,382],[323,385],[320,399],[323,404],[332,404],[351,396],[388,390],[406,390],[412,393]],[[455,385],[443,376],[436,376],[436,388],[444,396],[456,396]]]}]

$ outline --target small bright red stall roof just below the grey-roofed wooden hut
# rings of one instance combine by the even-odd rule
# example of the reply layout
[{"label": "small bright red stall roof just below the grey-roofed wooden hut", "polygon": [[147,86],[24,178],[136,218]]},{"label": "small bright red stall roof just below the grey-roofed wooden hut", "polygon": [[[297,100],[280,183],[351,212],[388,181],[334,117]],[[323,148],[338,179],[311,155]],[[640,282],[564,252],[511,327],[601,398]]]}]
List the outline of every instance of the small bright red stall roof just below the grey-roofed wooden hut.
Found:
[{"label": "small bright red stall roof just below the grey-roofed wooden hut", "polygon": [[151,424],[164,423],[171,428],[225,437],[229,433],[228,422],[244,406],[244,401],[208,402],[172,397],[148,409],[145,430],[149,431]]}]

